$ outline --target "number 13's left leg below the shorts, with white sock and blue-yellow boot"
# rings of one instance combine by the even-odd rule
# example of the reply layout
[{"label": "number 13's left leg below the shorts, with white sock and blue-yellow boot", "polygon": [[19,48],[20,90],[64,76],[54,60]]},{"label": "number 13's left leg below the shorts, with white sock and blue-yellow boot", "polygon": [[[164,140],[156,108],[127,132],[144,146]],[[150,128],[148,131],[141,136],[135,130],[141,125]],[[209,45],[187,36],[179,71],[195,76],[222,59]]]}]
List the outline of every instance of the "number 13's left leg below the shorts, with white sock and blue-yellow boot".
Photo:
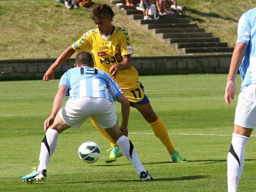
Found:
[{"label": "number 13's left leg below the shorts, with white sock and blue-yellow boot", "polygon": [[47,129],[44,139],[42,140],[38,168],[34,168],[31,173],[22,177],[23,182],[33,182],[34,180],[41,181],[46,179],[47,165],[57,146],[59,133],[69,127],[70,126],[61,119],[60,114],[58,113],[54,119],[54,123]]}]

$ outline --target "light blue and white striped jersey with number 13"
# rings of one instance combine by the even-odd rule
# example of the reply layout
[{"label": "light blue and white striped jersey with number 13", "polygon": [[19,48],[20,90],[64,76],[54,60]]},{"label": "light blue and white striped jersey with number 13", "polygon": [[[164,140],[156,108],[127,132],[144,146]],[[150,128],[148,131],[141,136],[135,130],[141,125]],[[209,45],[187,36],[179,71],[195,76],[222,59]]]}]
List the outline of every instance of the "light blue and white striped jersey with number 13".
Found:
[{"label": "light blue and white striped jersey with number 13", "polygon": [[[104,71],[89,67],[69,69],[60,78],[60,84],[68,87],[69,100],[79,97],[99,97],[113,101],[124,93],[116,82]],[[117,99],[116,99],[117,100]]]}]

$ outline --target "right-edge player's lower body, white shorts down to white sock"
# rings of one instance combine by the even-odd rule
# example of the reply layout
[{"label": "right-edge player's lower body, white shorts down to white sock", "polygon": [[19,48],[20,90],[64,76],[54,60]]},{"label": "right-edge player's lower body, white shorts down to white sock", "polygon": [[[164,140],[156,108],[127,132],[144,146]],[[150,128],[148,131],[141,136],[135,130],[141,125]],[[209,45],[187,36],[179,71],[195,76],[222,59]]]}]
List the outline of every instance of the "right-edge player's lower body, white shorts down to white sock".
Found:
[{"label": "right-edge player's lower body, white shorts down to white sock", "polygon": [[234,133],[228,151],[228,192],[236,192],[244,169],[244,151],[256,128],[256,84],[243,87],[238,96]]}]

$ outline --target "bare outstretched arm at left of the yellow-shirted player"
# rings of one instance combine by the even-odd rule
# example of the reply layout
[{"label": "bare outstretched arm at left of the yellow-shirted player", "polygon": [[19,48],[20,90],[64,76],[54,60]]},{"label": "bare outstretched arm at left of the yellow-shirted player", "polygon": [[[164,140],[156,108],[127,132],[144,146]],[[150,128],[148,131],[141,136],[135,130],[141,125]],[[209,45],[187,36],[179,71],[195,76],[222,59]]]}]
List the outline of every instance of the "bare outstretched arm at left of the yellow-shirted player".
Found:
[{"label": "bare outstretched arm at left of the yellow-shirted player", "polygon": [[55,69],[68,60],[76,51],[72,48],[72,46],[69,46],[65,51],[63,51],[60,56],[57,58],[57,60],[50,66],[50,68],[46,71],[44,74],[43,80],[44,81],[49,81],[52,79],[53,82],[54,80],[54,71]]}]

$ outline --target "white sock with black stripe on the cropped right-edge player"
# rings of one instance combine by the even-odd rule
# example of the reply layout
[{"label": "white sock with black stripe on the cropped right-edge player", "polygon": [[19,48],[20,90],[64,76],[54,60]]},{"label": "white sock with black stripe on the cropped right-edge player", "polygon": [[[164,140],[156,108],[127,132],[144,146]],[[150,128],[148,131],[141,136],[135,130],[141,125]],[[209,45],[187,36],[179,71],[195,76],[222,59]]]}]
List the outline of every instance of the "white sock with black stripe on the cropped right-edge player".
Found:
[{"label": "white sock with black stripe on the cropped right-edge player", "polygon": [[228,192],[236,192],[239,179],[244,170],[244,150],[249,137],[232,134],[231,147],[228,152]]}]

